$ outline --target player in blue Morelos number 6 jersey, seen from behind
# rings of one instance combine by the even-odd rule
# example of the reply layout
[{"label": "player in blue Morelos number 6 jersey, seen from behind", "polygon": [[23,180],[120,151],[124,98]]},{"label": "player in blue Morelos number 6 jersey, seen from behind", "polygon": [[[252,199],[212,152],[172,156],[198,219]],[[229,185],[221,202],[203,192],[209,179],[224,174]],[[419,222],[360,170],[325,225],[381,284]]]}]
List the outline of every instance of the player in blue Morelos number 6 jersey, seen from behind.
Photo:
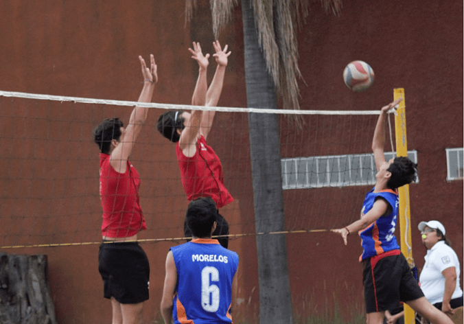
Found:
[{"label": "player in blue Morelos number 6 jersey, seen from behind", "polygon": [[192,200],[185,222],[192,241],[173,246],[166,257],[161,316],[171,323],[232,323],[232,281],[237,253],[211,236],[216,229],[216,204],[211,198]]}]

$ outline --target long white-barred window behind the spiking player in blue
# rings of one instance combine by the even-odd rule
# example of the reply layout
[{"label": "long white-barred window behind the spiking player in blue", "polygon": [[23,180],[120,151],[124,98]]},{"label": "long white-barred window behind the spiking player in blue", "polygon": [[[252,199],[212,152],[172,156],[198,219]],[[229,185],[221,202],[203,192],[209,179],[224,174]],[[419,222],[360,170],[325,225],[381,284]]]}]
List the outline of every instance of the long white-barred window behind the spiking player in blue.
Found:
[{"label": "long white-barred window behind the spiking player in blue", "polygon": [[[386,152],[385,159],[388,161],[395,155]],[[408,157],[417,163],[416,150],[408,151]],[[372,153],[281,159],[281,166],[282,189],[374,185],[377,174]]]}]

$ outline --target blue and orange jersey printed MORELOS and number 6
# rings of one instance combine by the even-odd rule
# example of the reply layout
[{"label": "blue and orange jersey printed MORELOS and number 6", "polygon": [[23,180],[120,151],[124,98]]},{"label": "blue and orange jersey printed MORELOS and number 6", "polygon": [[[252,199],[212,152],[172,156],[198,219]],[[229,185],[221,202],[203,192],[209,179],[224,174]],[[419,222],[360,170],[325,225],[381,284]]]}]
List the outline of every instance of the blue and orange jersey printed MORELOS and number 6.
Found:
[{"label": "blue and orange jersey printed MORELOS and number 6", "polygon": [[176,324],[232,323],[237,253],[218,240],[196,239],[171,248],[177,270],[172,317]]}]

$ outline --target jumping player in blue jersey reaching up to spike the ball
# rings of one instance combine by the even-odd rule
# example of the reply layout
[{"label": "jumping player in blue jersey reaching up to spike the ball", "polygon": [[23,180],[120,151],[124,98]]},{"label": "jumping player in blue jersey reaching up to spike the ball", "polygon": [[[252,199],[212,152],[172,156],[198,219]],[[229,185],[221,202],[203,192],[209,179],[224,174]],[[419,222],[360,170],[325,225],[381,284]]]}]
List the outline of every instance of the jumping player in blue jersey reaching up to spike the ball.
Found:
[{"label": "jumping player in blue jersey reaching up to spike the ball", "polygon": [[364,199],[360,220],[332,231],[342,235],[345,245],[348,235],[359,231],[368,324],[382,324],[384,312],[396,308],[399,301],[404,301],[432,323],[452,324],[448,316],[424,297],[395,238],[399,203],[397,188],[414,181],[417,171],[417,165],[407,157],[396,157],[390,161],[385,161],[384,157],[387,113],[401,100],[395,100],[380,111],[372,140],[377,167],[375,187]]}]

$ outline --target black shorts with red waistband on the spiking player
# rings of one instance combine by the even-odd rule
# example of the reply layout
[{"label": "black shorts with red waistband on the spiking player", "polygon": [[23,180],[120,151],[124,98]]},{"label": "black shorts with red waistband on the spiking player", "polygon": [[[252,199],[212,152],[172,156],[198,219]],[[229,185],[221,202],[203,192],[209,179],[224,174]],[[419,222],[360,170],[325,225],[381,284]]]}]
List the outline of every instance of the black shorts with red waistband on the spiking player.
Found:
[{"label": "black shorts with red waistband on the spiking player", "polygon": [[363,281],[367,313],[392,310],[400,301],[424,297],[402,254],[365,259]]}]

